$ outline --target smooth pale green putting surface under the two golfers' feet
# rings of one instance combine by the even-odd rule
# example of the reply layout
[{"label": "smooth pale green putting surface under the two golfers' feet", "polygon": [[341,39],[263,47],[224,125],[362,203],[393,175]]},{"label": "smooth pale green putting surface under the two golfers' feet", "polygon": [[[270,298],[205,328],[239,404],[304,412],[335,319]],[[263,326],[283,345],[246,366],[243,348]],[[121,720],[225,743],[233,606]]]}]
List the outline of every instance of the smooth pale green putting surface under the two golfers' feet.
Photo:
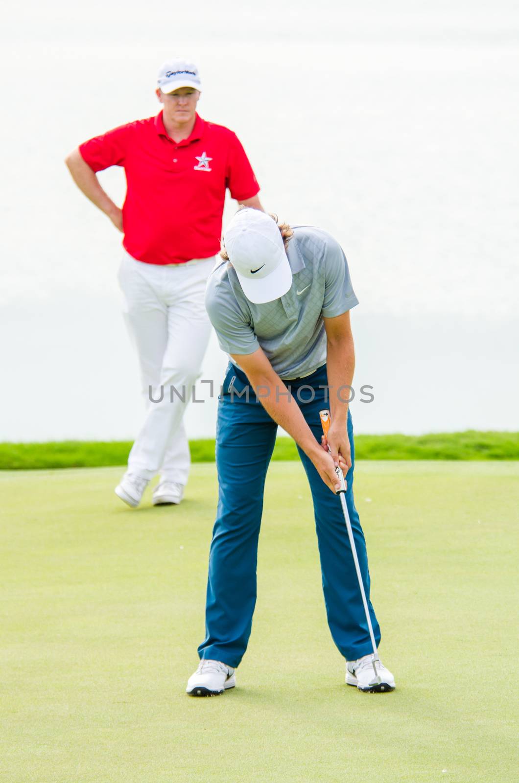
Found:
[{"label": "smooth pale green putting surface under the two golfers' feet", "polygon": [[359,462],[381,658],[397,690],[344,684],[310,493],[272,464],[238,687],[189,698],[216,507],[131,510],[121,468],[0,474],[2,732],[9,783],[514,780],[519,464]]}]

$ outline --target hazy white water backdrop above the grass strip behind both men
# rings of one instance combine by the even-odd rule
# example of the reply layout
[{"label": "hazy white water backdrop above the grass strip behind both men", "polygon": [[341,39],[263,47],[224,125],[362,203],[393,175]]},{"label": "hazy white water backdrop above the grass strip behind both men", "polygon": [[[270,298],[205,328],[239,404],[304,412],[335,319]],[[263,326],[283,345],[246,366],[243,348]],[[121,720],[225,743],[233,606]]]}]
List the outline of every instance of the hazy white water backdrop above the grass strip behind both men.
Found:
[{"label": "hazy white water backdrop above the grass strip behind both men", "polygon": [[[354,386],[376,397],[352,403],[357,432],[519,428],[516,3],[3,8],[0,440],[140,428],[121,238],[63,160],[156,114],[176,53],[198,63],[199,112],[238,133],[265,207],[343,245],[361,301]],[[121,202],[122,170],[101,179]],[[225,364],[213,335],[203,377]],[[189,435],[214,435],[215,418],[216,400],[191,405]]]}]

